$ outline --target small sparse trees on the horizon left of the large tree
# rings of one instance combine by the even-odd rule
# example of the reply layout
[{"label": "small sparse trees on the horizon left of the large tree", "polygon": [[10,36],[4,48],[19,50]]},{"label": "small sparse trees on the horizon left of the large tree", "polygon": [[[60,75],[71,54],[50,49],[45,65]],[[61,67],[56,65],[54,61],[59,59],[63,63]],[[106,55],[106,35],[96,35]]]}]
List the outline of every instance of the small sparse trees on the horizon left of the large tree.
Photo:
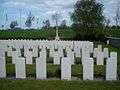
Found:
[{"label": "small sparse trees on the horizon left of the large tree", "polygon": [[[55,18],[56,18],[56,14],[52,15],[52,19],[54,20]],[[59,17],[57,17],[57,19],[56,19],[57,21],[58,21],[58,18]],[[28,16],[26,18],[26,21],[25,21],[25,26],[28,29],[31,29],[31,26],[32,26],[32,24],[33,24],[34,21],[35,21],[35,16],[33,16],[31,12],[29,12],[29,14],[28,14]],[[42,29],[54,28],[54,27],[51,26],[51,23],[50,23],[49,19],[46,19],[42,23],[43,23]],[[36,24],[38,24],[38,18],[36,19]],[[18,25],[19,24],[18,24],[17,20],[11,21],[10,28],[11,29],[16,29]],[[58,27],[61,28],[61,29],[66,29],[67,28],[67,21],[66,20],[62,20],[61,23],[60,23],[60,25]]]}]

